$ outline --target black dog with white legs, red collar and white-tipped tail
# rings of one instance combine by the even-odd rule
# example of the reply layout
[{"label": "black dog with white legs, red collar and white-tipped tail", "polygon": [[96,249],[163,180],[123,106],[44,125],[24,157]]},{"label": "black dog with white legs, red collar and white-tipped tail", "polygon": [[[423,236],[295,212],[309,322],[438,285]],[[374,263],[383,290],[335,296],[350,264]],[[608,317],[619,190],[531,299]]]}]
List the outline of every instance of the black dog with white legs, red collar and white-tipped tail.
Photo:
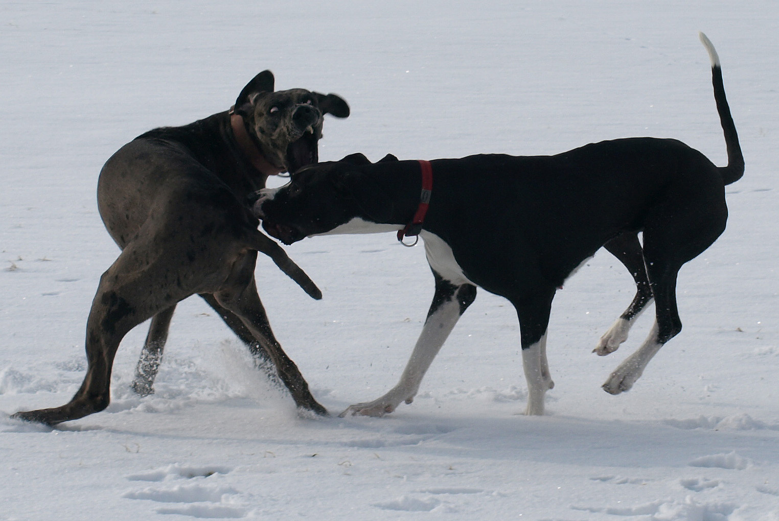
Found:
[{"label": "black dog with white legs, red collar and white-tipped tail", "polygon": [[415,234],[425,240],[435,296],[411,359],[390,392],[344,414],[381,416],[411,403],[477,285],[516,308],[527,414],[543,414],[545,393],[553,385],[545,349],[555,290],[604,245],[633,273],[638,293],[597,352],[615,350],[653,297],[656,306],[647,340],[603,385],[612,394],[631,388],[657,350],[682,329],[676,275],[724,231],[724,186],[744,171],[719,60],[703,34],[701,40],[712,62],[727,167],[714,166],[673,139],[634,138],[551,157],[478,155],[431,162],[386,157],[370,164],[357,154],[305,167],[290,184],[261,192],[255,213],[285,244],[317,234],[397,230],[400,240]]}]

